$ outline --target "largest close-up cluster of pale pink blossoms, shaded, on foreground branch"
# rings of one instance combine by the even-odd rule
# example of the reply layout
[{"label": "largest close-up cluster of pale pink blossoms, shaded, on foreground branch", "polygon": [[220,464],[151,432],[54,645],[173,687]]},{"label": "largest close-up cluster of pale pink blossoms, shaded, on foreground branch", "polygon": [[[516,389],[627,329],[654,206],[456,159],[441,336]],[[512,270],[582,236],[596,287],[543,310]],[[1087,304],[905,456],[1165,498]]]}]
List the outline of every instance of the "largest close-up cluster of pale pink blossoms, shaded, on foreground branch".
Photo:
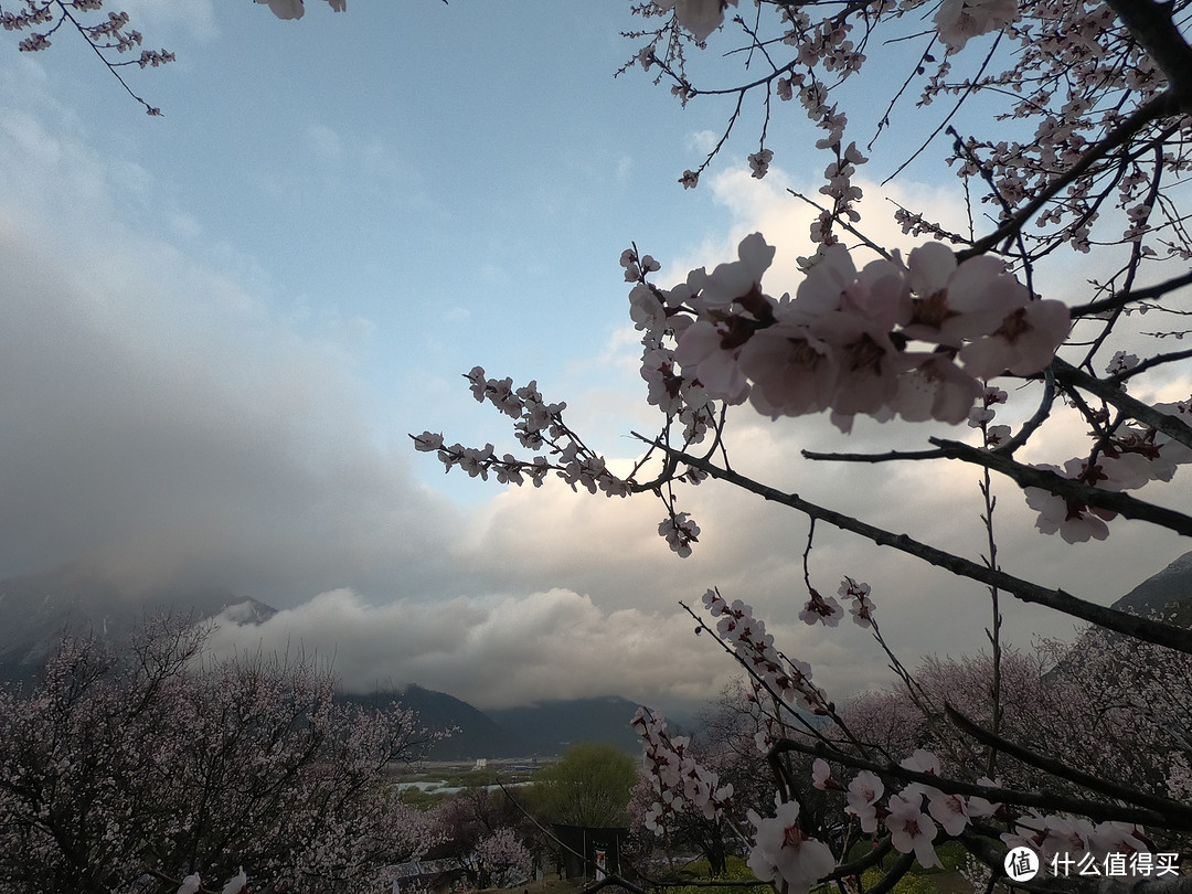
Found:
[{"label": "largest close-up cluster of pale pink blossoms, shaded, on foreground branch", "polygon": [[857,414],[955,424],[981,379],[1039,372],[1068,335],[1068,309],[1032,299],[994,257],[957,262],[930,242],[905,265],[858,271],[843,246],[826,246],[795,297],[776,299],[760,285],[774,254],[753,234],[712,273],[669,291],[642,273],[631,291],[648,399],[689,414],[694,435],[709,398],[749,399],[772,418],[827,410],[844,432]]}]

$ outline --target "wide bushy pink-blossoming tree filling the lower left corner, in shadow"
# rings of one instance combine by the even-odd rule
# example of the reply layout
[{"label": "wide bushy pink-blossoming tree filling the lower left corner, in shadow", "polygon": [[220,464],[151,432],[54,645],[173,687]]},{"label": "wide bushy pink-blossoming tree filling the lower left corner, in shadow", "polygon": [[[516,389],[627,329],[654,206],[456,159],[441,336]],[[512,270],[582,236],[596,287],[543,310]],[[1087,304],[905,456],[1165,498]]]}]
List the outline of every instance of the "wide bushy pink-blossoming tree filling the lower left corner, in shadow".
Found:
[{"label": "wide bushy pink-blossoming tree filling the lower left corner, in shadow", "polygon": [[151,623],[0,688],[0,890],[373,890],[436,842],[385,784],[434,737],[333,701],[312,660],[226,660]]}]

